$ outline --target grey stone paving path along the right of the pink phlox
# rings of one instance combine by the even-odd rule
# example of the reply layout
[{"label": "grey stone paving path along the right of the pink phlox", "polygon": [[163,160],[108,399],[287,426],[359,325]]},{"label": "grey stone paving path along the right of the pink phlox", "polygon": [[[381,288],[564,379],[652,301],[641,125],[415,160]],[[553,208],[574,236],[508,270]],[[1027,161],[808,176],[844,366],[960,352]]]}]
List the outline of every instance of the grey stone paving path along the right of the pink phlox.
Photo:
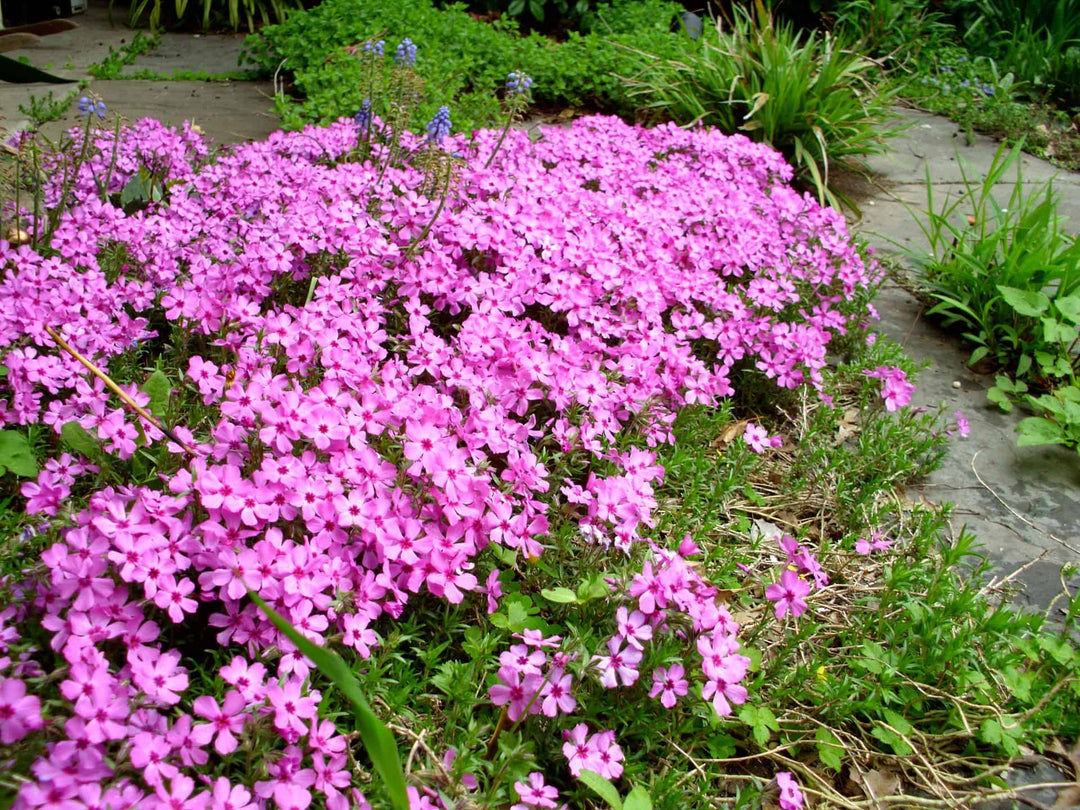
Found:
[{"label": "grey stone paving path along the right of the pink phlox", "polygon": [[[895,243],[926,246],[913,211],[926,206],[928,166],[934,195],[941,200],[959,193],[958,156],[981,179],[998,148],[984,137],[967,145],[962,135],[956,136],[956,124],[945,119],[903,114],[914,125],[894,141],[893,151],[872,162],[878,174],[861,201],[862,220],[852,224],[856,233],[889,254],[896,254]],[[1023,173],[1025,187],[1056,178],[1059,208],[1071,222],[1066,231],[1075,233],[1080,226],[1080,177],[1027,156]],[[1003,184],[998,199],[1011,189]],[[954,503],[955,529],[967,525],[978,536],[997,576],[1023,568],[1013,580],[1024,586],[1023,598],[1045,608],[1061,592],[1061,566],[1080,565],[1080,456],[1063,447],[1016,447],[1016,424],[1025,414],[1018,408],[1003,414],[986,400],[994,377],[968,367],[971,349],[958,334],[930,322],[924,307],[895,284],[887,285],[875,305],[881,313],[878,329],[914,359],[931,363],[917,380],[914,404],[941,407],[946,414],[959,409],[971,422],[971,435],[950,440],[948,457],[916,487],[918,494]],[[1070,583],[1080,585],[1080,578],[1072,577]]]}]

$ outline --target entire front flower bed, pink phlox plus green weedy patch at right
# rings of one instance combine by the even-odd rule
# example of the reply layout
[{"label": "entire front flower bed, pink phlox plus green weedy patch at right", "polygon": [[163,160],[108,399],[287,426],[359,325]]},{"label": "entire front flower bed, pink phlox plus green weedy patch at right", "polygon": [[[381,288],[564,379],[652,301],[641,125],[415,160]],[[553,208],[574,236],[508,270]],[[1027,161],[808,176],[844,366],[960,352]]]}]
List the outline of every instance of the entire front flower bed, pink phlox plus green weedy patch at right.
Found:
[{"label": "entire front flower bed, pink phlox plus green weedy patch at right", "polygon": [[4,798],[1017,795],[1080,733],[1080,597],[1010,607],[900,496],[967,428],[840,215],[702,127],[532,139],[519,72],[414,136],[409,55],[330,126],[215,153],[87,97],[5,159]]}]

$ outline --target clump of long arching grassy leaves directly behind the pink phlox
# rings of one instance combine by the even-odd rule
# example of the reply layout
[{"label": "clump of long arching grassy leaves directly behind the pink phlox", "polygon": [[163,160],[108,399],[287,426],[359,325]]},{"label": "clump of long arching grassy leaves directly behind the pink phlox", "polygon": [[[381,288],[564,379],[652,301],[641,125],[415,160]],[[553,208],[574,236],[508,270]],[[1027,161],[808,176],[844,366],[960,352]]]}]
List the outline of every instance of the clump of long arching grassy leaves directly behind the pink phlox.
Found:
[{"label": "clump of long arching grassy leaves directly behind the pink phlox", "polygon": [[881,68],[842,38],[804,33],[764,3],[718,18],[696,49],[649,54],[632,86],[648,109],[770,144],[822,201],[839,204],[838,170],[863,168],[885,149],[895,91]]}]

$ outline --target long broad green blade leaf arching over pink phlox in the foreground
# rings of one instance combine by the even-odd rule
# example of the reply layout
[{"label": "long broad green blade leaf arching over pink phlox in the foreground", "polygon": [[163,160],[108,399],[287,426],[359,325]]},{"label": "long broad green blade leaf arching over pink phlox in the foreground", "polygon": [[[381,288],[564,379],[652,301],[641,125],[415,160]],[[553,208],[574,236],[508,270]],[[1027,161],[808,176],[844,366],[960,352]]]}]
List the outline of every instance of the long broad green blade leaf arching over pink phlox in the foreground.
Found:
[{"label": "long broad green blade leaf arching over pink phlox in the foreground", "polygon": [[248,591],[247,595],[251,596],[252,602],[259,606],[267,618],[273,622],[274,626],[284,633],[300,652],[311,659],[319,669],[319,672],[329,678],[352,702],[361,741],[367,750],[367,755],[372,758],[375,770],[379,772],[382,781],[387,783],[390,804],[395,810],[408,810],[405,772],[402,770],[401,757],[397,754],[397,744],[394,742],[394,735],[390,733],[390,729],[379,719],[378,715],[372,711],[372,706],[368,705],[367,699],[361,689],[360,681],[349,671],[349,666],[345,660],[333,650],[319,647],[311,639],[300,635],[296,627],[279,616],[258,594]]}]

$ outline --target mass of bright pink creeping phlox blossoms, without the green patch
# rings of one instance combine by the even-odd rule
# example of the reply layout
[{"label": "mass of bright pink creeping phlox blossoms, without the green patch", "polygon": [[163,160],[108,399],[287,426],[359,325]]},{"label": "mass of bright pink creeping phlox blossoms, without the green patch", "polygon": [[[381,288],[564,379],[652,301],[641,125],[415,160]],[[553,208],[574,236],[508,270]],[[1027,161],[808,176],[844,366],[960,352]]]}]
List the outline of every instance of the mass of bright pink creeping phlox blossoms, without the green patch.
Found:
[{"label": "mass of bright pink creeping phlox blossoms, without the green patch", "polygon": [[[382,806],[340,699],[248,592],[361,676],[410,615],[463,606],[501,633],[467,650],[480,708],[458,718],[488,751],[421,737],[414,807],[555,807],[570,774],[617,780],[621,729],[576,715],[619,690],[694,705],[697,729],[746,701],[693,539],[652,530],[654,448],[742,368],[827,397],[829,340],[866,316],[876,269],[779,154],[591,118],[445,138],[440,195],[423,161],[357,150],[356,122],[213,160],[149,120],[75,137],[78,173],[45,166],[48,246],[0,242],[0,414],[49,457],[0,611],[15,807]],[[121,206],[138,177],[157,191]],[[906,404],[902,372],[875,375]],[[787,552],[777,617],[827,581]],[[608,575],[530,591],[553,558]],[[513,769],[462,770],[530,725]]]}]

